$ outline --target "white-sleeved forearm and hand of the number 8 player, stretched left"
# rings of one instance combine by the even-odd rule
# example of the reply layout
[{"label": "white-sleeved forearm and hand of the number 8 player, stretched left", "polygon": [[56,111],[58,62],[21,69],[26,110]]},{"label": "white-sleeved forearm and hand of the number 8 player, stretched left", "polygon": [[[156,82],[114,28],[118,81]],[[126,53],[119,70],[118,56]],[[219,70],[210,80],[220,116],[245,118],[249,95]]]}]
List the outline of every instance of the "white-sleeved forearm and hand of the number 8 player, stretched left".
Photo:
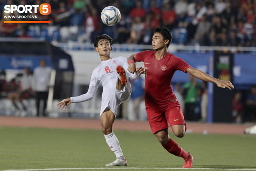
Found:
[{"label": "white-sleeved forearm and hand of the number 8 player, stretched left", "polygon": [[64,100],[62,100],[61,102],[59,102],[57,104],[57,106],[59,105],[58,108],[61,107],[61,110],[64,107],[64,110],[66,109],[67,105],[69,105],[70,103],[79,103],[79,102],[85,102],[88,100],[91,100],[96,92],[97,88],[95,86],[90,86],[88,89],[88,92],[86,94],[83,94],[81,96],[77,96],[77,97],[71,97],[71,98],[66,98]]}]

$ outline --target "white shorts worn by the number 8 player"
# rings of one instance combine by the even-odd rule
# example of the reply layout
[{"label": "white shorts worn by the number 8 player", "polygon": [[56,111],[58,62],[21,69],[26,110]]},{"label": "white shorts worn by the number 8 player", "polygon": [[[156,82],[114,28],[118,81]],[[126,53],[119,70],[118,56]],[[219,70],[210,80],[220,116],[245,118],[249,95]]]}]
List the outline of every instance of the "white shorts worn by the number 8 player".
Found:
[{"label": "white shorts worn by the number 8 player", "polygon": [[108,107],[116,117],[116,109],[121,103],[127,100],[131,95],[131,84],[127,81],[125,88],[123,90],[117,90],[116,84],[113,86],[111,91],[102,93],[101,109],[100,115]]}]

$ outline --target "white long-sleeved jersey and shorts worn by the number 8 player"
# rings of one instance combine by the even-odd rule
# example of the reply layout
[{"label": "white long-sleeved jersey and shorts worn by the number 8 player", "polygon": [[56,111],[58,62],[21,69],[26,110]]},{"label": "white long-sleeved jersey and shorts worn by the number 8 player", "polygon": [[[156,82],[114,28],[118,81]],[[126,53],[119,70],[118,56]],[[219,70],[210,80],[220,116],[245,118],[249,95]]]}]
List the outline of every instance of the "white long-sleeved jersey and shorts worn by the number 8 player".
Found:
[{"label": "white long-sleeved jersey and shorts worn by the number 8 player", "polygon": [[78,97],[71,97],[71,102],[77,103],[92,99],[99,84],[102,83],[103,93],[100,115],[107,107],[109,107],[114,115],[116,115],[117,107],[125,100],[127,100],[131,95],[131,84],[129,82],[129,79],[127,79],[127,83],[123,90],[116,89],[116,82],[118,81],[116,67],[118,65],[122,66],[125,69],[126,78],[139,78],[139,74],[137,76],[135,73],[132,74],[127,70],[129,65],[127,63],[127,59],[123,56],[111,58],[107,61],[102,61],[101,64],[99,64],[99,66],[97,66],[97,68],[93,70],[88,92]]}]

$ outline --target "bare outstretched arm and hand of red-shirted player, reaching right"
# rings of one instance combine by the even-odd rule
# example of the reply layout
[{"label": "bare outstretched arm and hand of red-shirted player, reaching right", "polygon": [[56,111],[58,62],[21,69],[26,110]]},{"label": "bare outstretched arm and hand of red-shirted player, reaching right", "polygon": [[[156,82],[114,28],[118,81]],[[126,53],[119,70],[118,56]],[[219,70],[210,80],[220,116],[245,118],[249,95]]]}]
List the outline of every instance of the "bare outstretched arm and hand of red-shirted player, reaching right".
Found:
[{"label": "bare outstretched arm and hand of red-shirted player, reaching right", "polygon": [[223,81],[223,80],[216,79],[216,78],[214,78],[198,69],[195,69],[191,66],[187,69],[187,73],[191,74],[195,78],[198,78],[202,81],[215,83],[218,87],[221,87],[221,88],[227,87],[230,90],[232,90],[232,88],[234,88],[234,85],[232,85],[232,83],[230,81]]}]

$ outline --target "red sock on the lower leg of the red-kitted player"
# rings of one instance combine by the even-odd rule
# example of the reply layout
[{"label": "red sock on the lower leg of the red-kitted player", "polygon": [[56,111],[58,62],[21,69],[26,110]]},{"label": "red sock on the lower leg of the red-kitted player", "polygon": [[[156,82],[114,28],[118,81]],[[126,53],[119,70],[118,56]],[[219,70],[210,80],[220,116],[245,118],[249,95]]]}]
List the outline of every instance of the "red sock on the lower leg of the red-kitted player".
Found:
[{"label": "red sock on the lower leg of the red-kitted player", "polygon": [[164,149],[166,149],[168,152],[175,156],[182,157],[183,159],[189,157],[189,153],[185,152],[182,148],[180,148],[178,144],[172,139],[169,139],[169,141],[164,145],[162,144],[162,146],[164,147]]}]

